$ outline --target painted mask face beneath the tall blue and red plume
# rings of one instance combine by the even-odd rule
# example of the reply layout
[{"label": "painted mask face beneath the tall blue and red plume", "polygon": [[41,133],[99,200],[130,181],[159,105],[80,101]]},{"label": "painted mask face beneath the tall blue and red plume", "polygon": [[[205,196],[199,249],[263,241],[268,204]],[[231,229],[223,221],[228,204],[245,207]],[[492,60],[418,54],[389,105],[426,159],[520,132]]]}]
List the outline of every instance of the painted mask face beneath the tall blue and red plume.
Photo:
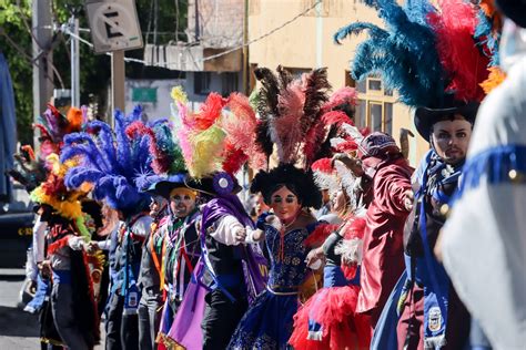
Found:
[{"label": "painted mask face beneath the tall blue and red plume", "polygon": [[455,165],[466,158],[472,136],[472,124],[462,116],[433,125],[432,142],[436,154],[447,164]]}]

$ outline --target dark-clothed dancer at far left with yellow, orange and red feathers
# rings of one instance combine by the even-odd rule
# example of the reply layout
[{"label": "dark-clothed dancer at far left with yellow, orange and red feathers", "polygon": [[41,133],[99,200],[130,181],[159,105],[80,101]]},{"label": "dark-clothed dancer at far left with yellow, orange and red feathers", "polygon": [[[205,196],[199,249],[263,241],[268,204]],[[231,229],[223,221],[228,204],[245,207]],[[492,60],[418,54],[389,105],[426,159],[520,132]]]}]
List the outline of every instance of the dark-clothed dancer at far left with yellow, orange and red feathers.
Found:
[{"label": "dark-clothed dancer at far left with yellow, orange and red feathers", "polygon": [[[92,349],[100,340],[99,315],[85,253],[90,233],[84,226],[80,197],[85,191],[68,191],[64,174],[72,164],[60,165],[57,155],[47,182],[31,192],[44,207],[50,230],[42,270],[52,274],[51,308],[60,338],[70,349]],[[50,156],[50,157],[51,157]]]}]

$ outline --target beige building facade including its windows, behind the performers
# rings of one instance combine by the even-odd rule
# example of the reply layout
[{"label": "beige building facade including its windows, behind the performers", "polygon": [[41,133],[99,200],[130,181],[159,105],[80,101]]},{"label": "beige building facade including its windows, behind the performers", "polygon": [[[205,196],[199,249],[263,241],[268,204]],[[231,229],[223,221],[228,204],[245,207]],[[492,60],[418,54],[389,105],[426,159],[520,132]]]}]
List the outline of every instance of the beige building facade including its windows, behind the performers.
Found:
[{"label": "beige building facade including its windows, behind the performers", "polygon": [[[412,111],[397,103],[396,93],[384,89],[378,76],[355,82],[350,75],[350,60],[363,38],[346,39],[341,45],[333,42],[333,34],[351,22],[382,25],[374,10],[360,0],[323,0],[318,4],[316,0],[247,1],[249,40],[256,40],[250,45],[251,69],[275,69],[281,64],[299,74],[326,66],[333,90],[345,85],[357,89],[360,103],[355,120],[358,126],[390,133],[395,140],[399,140],[403,130],[415,135],[409,137],[408,159],[417,164],[428,145],[417,136]],[[295,17],[297,19],[283,27]],[[280,29],[265,37],[276,28]],[[251,83],[255,84],[253,78]]]}]

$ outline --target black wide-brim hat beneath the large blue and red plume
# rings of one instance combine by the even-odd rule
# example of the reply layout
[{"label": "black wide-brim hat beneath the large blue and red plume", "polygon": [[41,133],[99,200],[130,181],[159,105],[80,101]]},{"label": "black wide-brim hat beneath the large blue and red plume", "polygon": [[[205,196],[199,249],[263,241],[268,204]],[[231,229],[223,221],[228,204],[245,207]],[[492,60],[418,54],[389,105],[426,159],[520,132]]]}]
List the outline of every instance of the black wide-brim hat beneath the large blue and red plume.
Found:
[{"label": "black wide-brim hat beneath the large blue and red plume", "polygon": [[422,137],[429,141],[433,125],[444,116],[459,114],[469,123],[475,123],[479,102],[446,101],[438,107],[418,107],[415,111],[415,127]]}]

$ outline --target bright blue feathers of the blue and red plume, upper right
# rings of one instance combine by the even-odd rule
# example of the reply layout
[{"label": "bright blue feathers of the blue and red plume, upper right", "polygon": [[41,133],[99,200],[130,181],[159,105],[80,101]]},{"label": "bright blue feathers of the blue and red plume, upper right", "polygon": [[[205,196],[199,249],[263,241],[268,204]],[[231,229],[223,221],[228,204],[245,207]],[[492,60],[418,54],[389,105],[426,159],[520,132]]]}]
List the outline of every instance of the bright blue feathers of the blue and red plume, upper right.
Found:
[{"label": "bright blue feathers of the blue and red plume, upper right", "polygon": [[444,94],[444,72],[435,48],[435,34],[425,22],[432,7],[424,0],[415,8],[403,8],[394,0],[367,0],[377,10],[385,30],[366,22],[356,22],[334,34],[336,43],[348,35],[367,31],[360,43],[351,71],[355,80],[381,74],[385,87],[396,90],[399,100],[411,106],[431,105]]}]

